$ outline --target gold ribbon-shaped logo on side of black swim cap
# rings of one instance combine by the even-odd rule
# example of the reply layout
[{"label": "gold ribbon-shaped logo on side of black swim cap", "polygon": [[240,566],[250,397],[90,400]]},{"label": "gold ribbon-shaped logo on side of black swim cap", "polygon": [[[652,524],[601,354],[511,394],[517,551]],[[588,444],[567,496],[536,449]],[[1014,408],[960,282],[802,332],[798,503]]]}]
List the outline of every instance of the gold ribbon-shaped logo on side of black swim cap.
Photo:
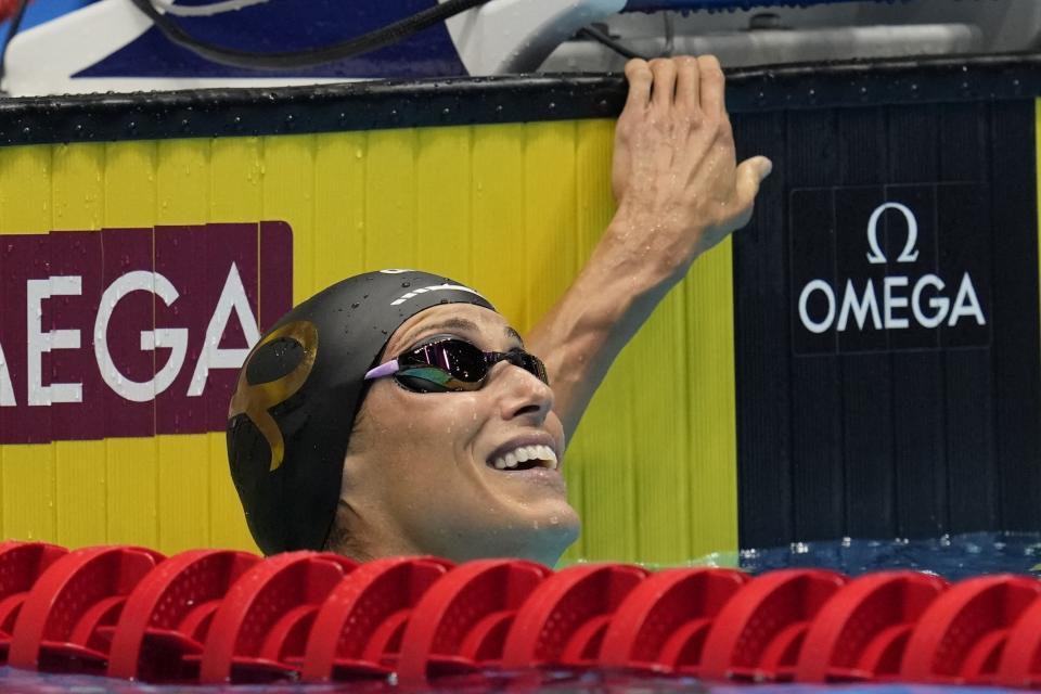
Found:
[{"label": "gold ribbon-shaped logo on side of black swim cap", "polygon": [[239,384],[235,386],[235,395],[231,398],[231,407],[228,410],[229,420],[245,414],[260,429],[260,434],[264,435],[268,446],[271,447],[269,472],[274,472],[282,465],[282,460],[285,458],[285,440],[282,438],[282,430],[279,428],[278,422],[274,421],[268,409],[280,402],[285,402],[307,382],[318,356],[318,327],[310,321],[287,323],[257,343],[245,363],[249,363],[258,349],[282,338],[293,339],[304,348],[304,358],[300,363],[280,378],[256,385],[247,381],[247,369],[243,367],[239,374]]}]

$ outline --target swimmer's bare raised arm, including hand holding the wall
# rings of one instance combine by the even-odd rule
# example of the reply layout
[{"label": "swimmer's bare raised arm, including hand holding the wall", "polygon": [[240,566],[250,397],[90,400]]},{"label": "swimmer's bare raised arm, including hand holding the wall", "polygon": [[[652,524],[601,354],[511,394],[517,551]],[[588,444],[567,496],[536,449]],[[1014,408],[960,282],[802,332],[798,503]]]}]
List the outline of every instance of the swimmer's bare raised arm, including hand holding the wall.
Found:
[{"label": "swimmer's bare raised arm, including hand holding the wall", "polygon": [[612,188],[618,209],[586,267],[525,336],[570,436],[626,343],[697,257],[751,218],[766,157],[736,164],[712,56],[630,61]]}]

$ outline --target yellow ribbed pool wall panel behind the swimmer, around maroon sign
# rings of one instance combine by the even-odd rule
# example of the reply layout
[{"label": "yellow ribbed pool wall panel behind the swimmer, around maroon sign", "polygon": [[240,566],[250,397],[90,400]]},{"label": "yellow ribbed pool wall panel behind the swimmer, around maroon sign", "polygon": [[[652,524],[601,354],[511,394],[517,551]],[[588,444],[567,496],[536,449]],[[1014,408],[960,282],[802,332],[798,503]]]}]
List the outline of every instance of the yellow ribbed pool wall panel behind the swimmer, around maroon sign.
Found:
[{"label": "yellow ribbed pool wall panel behind the swimmer, around maroon sign", "polygon": [[[298,301],[414,267],[522,332],[613,214],[611,120],[0,149],[0,234],[284,220]],[[737,545],[731,245],[624,350],[566,455],[566,561],[668,564]],[[89,346],[88,346],[89,347]],[[0,446],[0,537],[256,551],[223,433]]]}]

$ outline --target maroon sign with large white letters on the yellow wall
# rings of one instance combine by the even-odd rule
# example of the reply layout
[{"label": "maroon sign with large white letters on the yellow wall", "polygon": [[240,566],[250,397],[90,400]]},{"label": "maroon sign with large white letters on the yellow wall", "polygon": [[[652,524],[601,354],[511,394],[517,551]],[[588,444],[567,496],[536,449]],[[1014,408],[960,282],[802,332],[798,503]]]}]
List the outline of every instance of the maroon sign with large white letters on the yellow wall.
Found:
[{"label": "maroon sign with large white letters on the yellow wall", "polygon": [[224,428],[292,306],[285,222],[0,237],[0,444]]}]

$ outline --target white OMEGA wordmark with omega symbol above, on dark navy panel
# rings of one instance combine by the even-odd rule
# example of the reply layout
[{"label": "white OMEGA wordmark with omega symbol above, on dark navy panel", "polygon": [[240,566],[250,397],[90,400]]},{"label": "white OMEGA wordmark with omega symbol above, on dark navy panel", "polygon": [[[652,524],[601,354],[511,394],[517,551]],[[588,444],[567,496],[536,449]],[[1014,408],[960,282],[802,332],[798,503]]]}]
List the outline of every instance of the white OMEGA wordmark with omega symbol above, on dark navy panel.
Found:
[{"label": "white OMEGA wordmark with omega symbol above, on dark navy panel", "polygon": [[[878,245],[878,221],[888,210],[899,213],[907,226],[907,240],[896,264],[913,264],[918,259],[918,222],[914,213],[900,203],[885,203],[872,213],[868,221],[868,262],[889,262]],[[850,317],[859,331],[903,330],[911,326],[912,320],[926,329],[939,327],[944,322],[954,327],[962,320],[973,320],[977,325],[987,324],[968,272],[963,273],[958,282],[953,300],[944,294],[947,287],[947,283],[931,272],[917,278],[904,273],[885,277],[881,287],[876,286],[875,280],[869,279],[859,294],[852,280],[846,280],[840,295],[825,280],[811,280],[799,294],[799,320],[806,330],[817,334],[825,333],[833,326],[838,332],[853,330]],[[814,310],[811,311],[810,301],[815,294],[823,301],[814,300]],[[820,310],[822,306],[823,311]]]}]

